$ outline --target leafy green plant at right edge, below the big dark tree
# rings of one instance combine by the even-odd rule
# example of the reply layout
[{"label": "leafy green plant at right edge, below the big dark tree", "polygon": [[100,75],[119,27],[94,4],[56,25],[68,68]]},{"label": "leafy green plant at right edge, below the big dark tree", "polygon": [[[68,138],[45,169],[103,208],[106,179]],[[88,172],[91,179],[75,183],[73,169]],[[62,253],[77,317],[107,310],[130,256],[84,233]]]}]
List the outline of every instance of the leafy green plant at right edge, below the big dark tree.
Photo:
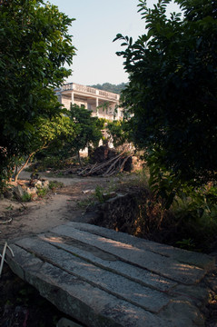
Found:
[{"label": "leafy green plant at right edge, below the big dark tree", "polygon": [[216,189],[216,185],[182,188],[182,193],[171,208],[176,221],[179,222],[178,242],[182,242],[182,239],[192,240],[194,250],[212,251],[217,241]]}]

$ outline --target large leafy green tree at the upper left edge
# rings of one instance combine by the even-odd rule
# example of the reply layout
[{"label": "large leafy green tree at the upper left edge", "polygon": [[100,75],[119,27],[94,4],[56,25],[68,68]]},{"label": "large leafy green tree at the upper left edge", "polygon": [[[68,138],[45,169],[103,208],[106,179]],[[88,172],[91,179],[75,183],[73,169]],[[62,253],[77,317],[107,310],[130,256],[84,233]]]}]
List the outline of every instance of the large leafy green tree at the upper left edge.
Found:
[{"label": "large leafy green tree at the upper left edge", "polygon": [[71,74],[74,19],[43,0],[0,4],[0,170],[28,154],[39,117],[51,118],[61,105],[54,87]]}]

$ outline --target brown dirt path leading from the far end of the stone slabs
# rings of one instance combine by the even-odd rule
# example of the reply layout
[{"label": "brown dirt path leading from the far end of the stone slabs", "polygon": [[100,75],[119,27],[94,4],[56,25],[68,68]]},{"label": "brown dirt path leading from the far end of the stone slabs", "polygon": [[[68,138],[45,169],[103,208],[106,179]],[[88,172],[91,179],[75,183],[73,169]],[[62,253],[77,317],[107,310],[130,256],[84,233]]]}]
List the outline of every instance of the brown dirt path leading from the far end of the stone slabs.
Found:
[{"label": "brown dirt path leading from the far end of the stone slabs", "polygon": [[[28,179],[29,175],[29,173],[22,173],[20,179]],[[88,198],[94,193],[97,185],[106,189],[111,183],[118,183],[118,178],[108,180],[103,177],[50,178],[43,175],[41,177],[62,182],[65,186],[56,193],[32,203],[0,201],[0,213],[2,213],[0,215],[5,213],[5,220],[12,218],[11,223],[1,223],[0,220],[1,242],[25,234],[42,233],[66,221],[87,223],[87,218],[84,216],[85,206],[81,204],[88,203]]]}]

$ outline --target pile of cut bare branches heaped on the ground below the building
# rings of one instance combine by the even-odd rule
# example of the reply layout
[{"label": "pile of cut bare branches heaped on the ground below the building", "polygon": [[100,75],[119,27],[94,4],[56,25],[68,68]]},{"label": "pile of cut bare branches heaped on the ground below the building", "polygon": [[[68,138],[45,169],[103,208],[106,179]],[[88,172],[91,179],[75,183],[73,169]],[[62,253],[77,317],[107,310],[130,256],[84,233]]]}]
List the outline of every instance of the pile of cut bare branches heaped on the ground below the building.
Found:
[{"label": "pile of cut bare branches heaped on the ground below the building", "polygon": [[116,173],[122,173],[125,164],[131,157],[132,154],[127,154],[127,151],[123,150],[121,154],[115,155],[113,158],[105,161],[104,163],[89,164],[82,172],[78,174],[82,176],[100,175],[109,177]]}]

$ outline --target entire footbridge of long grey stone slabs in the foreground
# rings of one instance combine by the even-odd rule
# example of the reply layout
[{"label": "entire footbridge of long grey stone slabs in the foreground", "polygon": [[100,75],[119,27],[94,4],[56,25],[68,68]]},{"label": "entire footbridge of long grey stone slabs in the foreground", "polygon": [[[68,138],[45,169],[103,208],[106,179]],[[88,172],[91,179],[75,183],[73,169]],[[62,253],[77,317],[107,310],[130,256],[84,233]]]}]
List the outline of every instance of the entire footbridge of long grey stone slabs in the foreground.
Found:
[{"label": "entire footbridge of long grey stone slabs in the foreground", "polygon": [[12,270],[90,327],[203,326],[214,259],[87,223],[14,240]]}]

